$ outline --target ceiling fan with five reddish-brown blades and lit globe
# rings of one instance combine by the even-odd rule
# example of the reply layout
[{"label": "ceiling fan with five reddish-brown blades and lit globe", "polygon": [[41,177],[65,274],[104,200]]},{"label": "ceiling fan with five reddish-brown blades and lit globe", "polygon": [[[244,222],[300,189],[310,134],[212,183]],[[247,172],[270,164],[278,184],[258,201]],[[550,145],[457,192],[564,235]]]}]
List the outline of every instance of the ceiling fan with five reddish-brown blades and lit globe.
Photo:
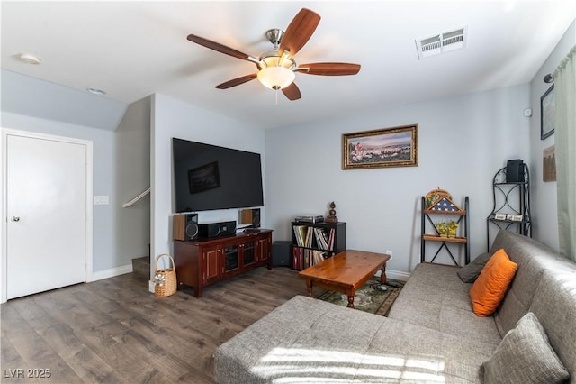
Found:
[{"label": "ceiling fan with five reddish-brown blades and lit globe", "polygon": [[286,32],[280,29],[271,29],[266,32],[266,38],[274,44],[274,50],[263,53],[259,58],[194,34],[189,34],[187,39],[211,50],[217,50],[220,53],[256,64],[257,72],[240,78],[233,78],[216,86],[217,88],[228,89],[258,78],[265,87],[275,90],[282,89],[284,96],[288,99],[298,100],[302,95],[300,89],[293,82],[296,78],[296,72],[321,76],[345,76],[356,75],[360,70],[359,64],[350,63],[322,62],[302,65],[296,63],[293,55],[301,50],[311,38],[319,23],[320,14],[302,8],[294,16],[293,21],[286,28]]}]

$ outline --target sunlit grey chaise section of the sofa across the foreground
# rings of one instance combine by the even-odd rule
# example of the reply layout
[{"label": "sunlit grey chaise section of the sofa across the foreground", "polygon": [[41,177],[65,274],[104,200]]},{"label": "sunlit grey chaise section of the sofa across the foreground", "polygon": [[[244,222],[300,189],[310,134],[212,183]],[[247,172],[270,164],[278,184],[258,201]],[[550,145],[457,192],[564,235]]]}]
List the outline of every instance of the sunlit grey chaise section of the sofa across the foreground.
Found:
[{"label": "sunlit grey chaise section of the sofa across the foreground", "polygon": [[495,348],[297,296],[220,345],[214,378],[220,384],[478,382]]}]

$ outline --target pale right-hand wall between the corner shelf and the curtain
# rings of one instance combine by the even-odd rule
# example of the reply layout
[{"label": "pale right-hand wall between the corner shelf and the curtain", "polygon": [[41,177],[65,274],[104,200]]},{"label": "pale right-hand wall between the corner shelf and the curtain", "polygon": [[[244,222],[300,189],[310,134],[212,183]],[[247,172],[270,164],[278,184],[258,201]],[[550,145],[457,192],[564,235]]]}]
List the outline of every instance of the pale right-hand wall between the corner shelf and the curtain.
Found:
[{"label": "pale right-hand wall between the corner shelf and the curtain", "polygon": [[530,83],[530,104],[534,114],[530,122],[530,169],[532,178],[532,220],[533,237],[558,251],[558,200],[556,196],[556,182],[542,180],[543,160],[542,153],[545,148],[554,145],[555,135],[540,140],[540,97],[552,85],[544,82],[548,73],[553,73],[560,61],[576,44],[576,22],[564,33],[554,51],[542,65],[535,78]]}]

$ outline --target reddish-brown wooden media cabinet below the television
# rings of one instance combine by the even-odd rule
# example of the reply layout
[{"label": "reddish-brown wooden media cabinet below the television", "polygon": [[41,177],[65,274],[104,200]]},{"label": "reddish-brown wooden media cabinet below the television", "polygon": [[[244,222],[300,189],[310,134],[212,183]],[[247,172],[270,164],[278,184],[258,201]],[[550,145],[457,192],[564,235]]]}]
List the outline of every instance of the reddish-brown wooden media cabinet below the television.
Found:
[{"label": "reddish-brown wooden media cabinet below the television", "polygon": [[257,267],[272,269],[272,230],[262,229],[216,239],[174,242],[178,289],[202,297],[202,288]]}]

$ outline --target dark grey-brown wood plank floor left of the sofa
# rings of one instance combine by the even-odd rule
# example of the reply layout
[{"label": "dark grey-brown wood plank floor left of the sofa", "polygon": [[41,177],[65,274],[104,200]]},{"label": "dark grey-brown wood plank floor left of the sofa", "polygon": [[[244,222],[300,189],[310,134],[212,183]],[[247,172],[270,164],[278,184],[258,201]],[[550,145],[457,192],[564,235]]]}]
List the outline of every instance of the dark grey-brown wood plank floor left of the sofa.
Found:
[{"label": "dark grey-brown wood plank floor left of the sofa", "polygon": [[[155,297],[129,273],[10,300],[0,381],[210,383],[216,347],[299,294],[303,279],[279,267],[204,288],[202,298],[192,288]],[[30,377],[42,373],[49,379]]]}]

